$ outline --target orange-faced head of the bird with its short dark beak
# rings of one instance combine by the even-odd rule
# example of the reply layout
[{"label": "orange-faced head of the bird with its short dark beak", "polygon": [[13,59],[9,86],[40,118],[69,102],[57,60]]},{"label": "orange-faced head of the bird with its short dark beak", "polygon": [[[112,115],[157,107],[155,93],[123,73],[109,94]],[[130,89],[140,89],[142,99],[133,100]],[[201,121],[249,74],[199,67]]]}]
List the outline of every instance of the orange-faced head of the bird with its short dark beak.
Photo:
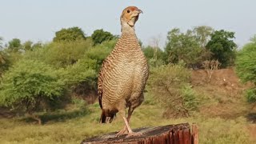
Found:
[{"label": "orange-faced head of the bird with its short dark beak", "polygon": [[121,14],[121,25],[134,27],[135,22],[138,21],[139,14],[142,13],[142,10],[139,10],[136,6],[126,7],[125,10],[122,10]]}]

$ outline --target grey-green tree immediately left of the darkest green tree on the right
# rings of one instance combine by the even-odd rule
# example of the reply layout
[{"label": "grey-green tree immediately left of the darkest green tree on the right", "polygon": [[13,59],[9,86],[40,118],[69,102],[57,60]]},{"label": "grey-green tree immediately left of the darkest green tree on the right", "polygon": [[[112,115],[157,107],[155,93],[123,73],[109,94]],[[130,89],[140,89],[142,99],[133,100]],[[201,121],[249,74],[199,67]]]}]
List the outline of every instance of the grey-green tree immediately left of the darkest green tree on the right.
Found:
[{"label": "grey-green tree immediately left of the darkest green tree on the right", "polygon": [[178,28],[170,30],[167,35],[166,54],[171,63],[185,62],[194,67],[202,61],[202,48],[191,30],[181,33]]}]

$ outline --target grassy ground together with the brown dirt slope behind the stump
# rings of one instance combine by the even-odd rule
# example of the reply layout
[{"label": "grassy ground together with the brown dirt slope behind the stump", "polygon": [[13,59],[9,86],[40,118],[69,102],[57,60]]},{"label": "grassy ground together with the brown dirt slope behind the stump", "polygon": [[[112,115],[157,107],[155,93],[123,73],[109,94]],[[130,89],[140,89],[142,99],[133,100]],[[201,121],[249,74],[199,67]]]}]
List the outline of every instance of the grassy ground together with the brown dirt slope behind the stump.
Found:
[{"label": "grassy ground together with the brown dirt slope behind the stump", "polygon": [[[256,143],[256,106],[246,102],[237,78],[230,78],[233,71],[219,71],[211,83],[202,83],[202,74],[192,75],[193,89],[200,99],[198,112],[189,118],[163,118],[161,104],[146,93],[145,102],[132,115],[131,127],[163,126],[182,122],[199,126],[202,144],[254,144]],[[215,73],[218,74],[218,73]],[[195,76],[195,77],[194,77]],[[226,81],[222,81],[222,77]],[[65,110],[42,113],[43,125],[26,117],[0,117],[1,144],[80,143],[84,138],[121,130],[122,118],[111,124],[99,124],[101,111],[98,102],[84,106],[75,101]],[[250,115],[250,118],[248,118]]]}]

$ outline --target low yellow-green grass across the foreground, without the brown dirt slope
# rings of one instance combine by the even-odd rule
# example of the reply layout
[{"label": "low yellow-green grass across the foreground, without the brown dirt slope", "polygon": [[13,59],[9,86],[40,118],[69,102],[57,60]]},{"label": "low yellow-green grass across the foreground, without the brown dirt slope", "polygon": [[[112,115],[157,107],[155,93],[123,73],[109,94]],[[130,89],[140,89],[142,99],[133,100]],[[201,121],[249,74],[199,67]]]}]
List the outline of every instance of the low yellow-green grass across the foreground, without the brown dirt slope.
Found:
[{"label": "low yellow-green grass across the foreground, without the brown dirt slope", "polygon": [[[246,129],[249,124],[246,118],[235,119],[206,118],[202,114],[195,114],[190,118],[162,118],[164,110],[152,99],[146,98],[145,104],[139,106],[131,118],[131,127],[162,126],[181,122],[197,123],[199,126],[200,143],[224,144],[224,143],[254,143],[250,142],[249,131]],[[1,118],[0,119],[0,143],[80,143],[83,138],[90,138],[94,135],[105,134],[121,130],[123,127],[122,118],[115,118],[111,124],[99,124],[100,108],[98,104],[88,106],[86,113],[72,115],[67,110],[55,113],[62,115],[61,120],[54,120],[55,117],[45,119],[42,126],[34,122],[24,121],[24,118]],[[70,113],[73,118],[70,118]],[[54,115],[54,113],[53,113]],[[55,114],[56,115],[56,114]],[[46,116],[45,116],[46,117]],[[46,117],[47,118],[47,117]],[[25,118],[26,119],[26,118]]]}]

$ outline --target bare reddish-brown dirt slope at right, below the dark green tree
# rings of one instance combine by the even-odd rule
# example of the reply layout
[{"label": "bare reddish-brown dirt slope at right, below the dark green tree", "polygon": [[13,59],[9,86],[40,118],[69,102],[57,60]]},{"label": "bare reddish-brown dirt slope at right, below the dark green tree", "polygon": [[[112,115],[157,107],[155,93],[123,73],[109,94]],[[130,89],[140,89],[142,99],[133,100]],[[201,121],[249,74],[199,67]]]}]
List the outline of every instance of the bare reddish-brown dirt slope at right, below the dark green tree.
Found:
[{"label": "bare reddish-brown dirt slope at right, below the dark green tree", "polygon": [[[194,90],[207,95],[210,105],[202,106],[200,112],[208,117],[245,117],[251,124],[247,126],[250,138],[256,140],[256,104],[248,104],[245,90],[252,87],[250,82],[242,83],[234,69],[212,71],[211,78],[206,70],[193,70],[191,83]],[[210,78],[210,79],[209,79]],[[216,102],[217,101],[217,102]]]}]

